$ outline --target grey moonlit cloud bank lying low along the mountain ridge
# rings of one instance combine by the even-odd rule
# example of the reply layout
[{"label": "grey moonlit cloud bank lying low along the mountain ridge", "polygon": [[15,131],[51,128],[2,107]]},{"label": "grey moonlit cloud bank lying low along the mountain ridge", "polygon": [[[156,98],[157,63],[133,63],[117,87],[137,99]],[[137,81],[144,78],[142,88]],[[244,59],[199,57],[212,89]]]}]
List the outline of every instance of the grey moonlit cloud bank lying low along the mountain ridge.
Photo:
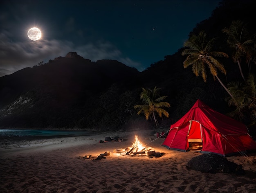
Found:
[{"label": "grey moonlit cloud bank lying low along the mountain ridge", "polygon": [[0,34],[0,39],[0,77],[33,67],[41,61],[47,63],[50,59],[65,57],[68,52],[76,52],[92,61],[116,59],[127,66],[143,70],[140,63],[123,57],[121,51],[109,42],[88,43],[82,46],[74,46],[70,41],[56,39],[14,43],[4,33]]}]

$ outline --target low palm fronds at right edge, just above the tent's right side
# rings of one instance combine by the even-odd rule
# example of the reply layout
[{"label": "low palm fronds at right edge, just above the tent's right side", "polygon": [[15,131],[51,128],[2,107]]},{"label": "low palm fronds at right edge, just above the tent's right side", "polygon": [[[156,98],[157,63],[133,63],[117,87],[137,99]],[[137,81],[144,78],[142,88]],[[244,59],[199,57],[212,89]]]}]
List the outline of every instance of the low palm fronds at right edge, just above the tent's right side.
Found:
[{"label": "low palm fronds at right edge, just above the tent's right side", "polygon": [[229,106],[236,106],[236,110],[233,113],[243,118],[244,112],[249,110],[252,120],[256,122],[256,77],[254,74],[249,73],[244,83],[229,83],[228,90],[234,96],[234,99],[228,99]]}]

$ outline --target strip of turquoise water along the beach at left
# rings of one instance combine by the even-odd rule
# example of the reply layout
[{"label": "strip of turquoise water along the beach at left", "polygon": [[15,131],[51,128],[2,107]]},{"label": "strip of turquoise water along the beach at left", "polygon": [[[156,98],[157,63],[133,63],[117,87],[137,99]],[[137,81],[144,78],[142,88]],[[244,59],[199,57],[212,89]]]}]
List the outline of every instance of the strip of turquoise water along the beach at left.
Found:
[{"label": "strip of turquoise water along the beach at left", "polygon": [[0,137],[51,137],[51,136],[88,136],[88,131],[62,131],[37,129],[0,129]]}]

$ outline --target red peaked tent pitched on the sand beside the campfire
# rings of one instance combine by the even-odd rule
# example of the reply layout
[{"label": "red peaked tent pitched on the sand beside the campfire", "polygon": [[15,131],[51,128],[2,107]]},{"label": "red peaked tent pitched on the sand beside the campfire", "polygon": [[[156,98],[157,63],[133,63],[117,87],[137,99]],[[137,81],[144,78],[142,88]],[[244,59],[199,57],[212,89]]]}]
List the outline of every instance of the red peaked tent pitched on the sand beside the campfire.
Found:
[{"label": "red peaked tent pitched on the sand beside the campfire", "polygon": [[202,143],[202,153],[229,156],[256,150],[256,142],[243,124],[214,111],[198,99],[191,110],[171,125],[163,146],[189,151],[189,142]]}]

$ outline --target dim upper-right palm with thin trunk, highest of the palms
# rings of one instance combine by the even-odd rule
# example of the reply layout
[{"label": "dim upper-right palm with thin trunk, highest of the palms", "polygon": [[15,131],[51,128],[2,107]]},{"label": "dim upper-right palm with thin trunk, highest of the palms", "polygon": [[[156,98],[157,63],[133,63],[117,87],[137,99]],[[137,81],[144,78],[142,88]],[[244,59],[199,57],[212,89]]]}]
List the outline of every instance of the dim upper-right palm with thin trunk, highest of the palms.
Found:
[{"label": "dim upper-right palm with thin trunk, highest of the palms", "polygon": [[253,40],[249,38],[249,31],[242,21],[236,20],[228,28],[224,28],[222,32],[227,35],[227,43],[234,50],[232,59],[238,64],[240,74],[245,81],[241,60],[244,56],[248,57],[247,52],[253,44]]}]

